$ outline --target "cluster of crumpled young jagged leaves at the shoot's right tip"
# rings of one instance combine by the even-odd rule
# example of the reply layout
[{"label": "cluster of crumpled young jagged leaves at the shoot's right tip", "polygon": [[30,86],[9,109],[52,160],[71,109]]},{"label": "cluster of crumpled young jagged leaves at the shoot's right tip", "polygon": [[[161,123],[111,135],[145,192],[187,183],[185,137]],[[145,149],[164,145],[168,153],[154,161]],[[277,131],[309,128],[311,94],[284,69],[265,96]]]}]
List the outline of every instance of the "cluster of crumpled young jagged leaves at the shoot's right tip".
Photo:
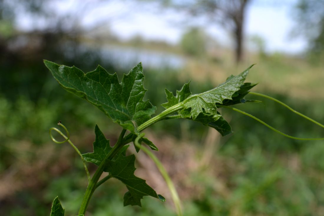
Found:
[{"label": "cluster of crumpled young jagged leaves at the shoot's right tip", "polygon": [[226,81],[212,90],[200,94],[192,94],[189,83],[183,85],[181,90],[177,90],[176,96],[169,90],[165,90],[168,102],[162,104],[166,109],[182,103],[183,109],[178,113],[183,118],[191,119],[203,125],[215,128],[222,136],[232,133],[232,128],[228,122],[217,111],[217,105],[234,105],[246,101],[244,96],[254,87],[254,83],[244,83],[251,65],[237,76],[229,76]]}]

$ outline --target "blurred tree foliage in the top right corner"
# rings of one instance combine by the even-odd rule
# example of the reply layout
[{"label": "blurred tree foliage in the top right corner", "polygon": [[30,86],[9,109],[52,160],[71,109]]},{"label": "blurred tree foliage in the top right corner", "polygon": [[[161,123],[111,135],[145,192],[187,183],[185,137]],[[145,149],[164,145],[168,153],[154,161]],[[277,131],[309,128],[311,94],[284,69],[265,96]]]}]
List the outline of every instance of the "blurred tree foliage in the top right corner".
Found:
[{"label": "blurred tree foliage in the top right corner", "polygon": [[324,51],[324,0],[299,0],[295,7],[298,34],[308,38],[309,51]]}]

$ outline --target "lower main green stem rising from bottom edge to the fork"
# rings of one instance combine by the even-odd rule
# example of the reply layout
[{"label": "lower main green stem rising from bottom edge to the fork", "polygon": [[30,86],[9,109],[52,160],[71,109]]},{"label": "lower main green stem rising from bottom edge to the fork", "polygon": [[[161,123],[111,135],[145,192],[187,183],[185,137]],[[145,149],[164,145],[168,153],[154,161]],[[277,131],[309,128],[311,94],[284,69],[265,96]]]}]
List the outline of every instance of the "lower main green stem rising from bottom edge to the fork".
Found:
[{"label": "lower main green stem rising from bottom edge to the fork", "polygon": [[93,194],[93,192],[95,191],[95,189],[97,188],[97,182],[101,176],[101,174],[104,171],[105,165],[107,160],[111,160],[119,150],[121,150],[121,148],[123,147],[123,142],[122,139],[124,137],[126,133],[126,129],[122,129],[121,134],[115,144],[115,146],[112,148],[112,150],[106,155],[106,157],[103,159],[103,161],[100,163],[97,171],[95,172],[95,174],[93,175],[91,181],[89,182],[85,195],[83,197],[82,203],[81,203],[81,207],[79,210],[78,214],[84,215],[86,213],[90,198]]}]

